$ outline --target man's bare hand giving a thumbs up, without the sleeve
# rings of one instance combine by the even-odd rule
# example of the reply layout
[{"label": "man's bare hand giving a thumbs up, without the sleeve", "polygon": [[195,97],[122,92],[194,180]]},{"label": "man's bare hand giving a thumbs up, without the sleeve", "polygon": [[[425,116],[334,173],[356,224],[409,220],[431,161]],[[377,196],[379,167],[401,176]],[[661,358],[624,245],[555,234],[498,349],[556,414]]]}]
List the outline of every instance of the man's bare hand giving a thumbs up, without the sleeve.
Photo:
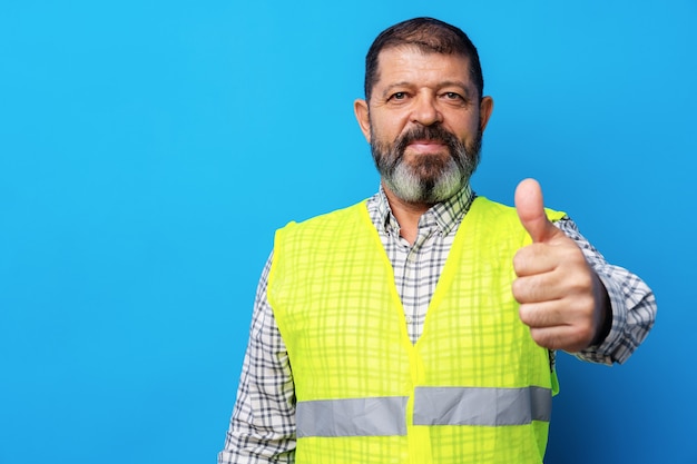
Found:
[{"label": "man's bare hand giving a thumbs up, without the sleeve", "polygon": [[516,210],[532,244],[513,258],[512,290],[532,338],[571,353],[602,342],[597,338],[611,315],[607,290],[581,249],[547,218],[537,180],[518,185]]}]

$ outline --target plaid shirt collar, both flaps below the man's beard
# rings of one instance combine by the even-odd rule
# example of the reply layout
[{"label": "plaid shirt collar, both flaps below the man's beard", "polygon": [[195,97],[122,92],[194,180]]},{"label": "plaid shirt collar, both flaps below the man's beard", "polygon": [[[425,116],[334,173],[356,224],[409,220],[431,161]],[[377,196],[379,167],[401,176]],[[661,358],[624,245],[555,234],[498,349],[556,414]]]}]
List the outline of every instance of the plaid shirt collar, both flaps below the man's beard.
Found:
[{"label": "plaid shirt collar, both flaps below the man's beard", "polygon": [[[376,197],[377,221],[375,225],[384,228],[386,233],[399,231],[400,225],[392,214],[387,196],[385,195],[382,185],[380,186],[380,191]],[[468,213],[475,197],[477,195],[472,191],[472,188],[468,182],[451,198],[445,201],[438,203],[429,208],[429,210],[425,211],[419,220],[419,227],[435,226],[441,235],[445,236],[450,234]]]}]

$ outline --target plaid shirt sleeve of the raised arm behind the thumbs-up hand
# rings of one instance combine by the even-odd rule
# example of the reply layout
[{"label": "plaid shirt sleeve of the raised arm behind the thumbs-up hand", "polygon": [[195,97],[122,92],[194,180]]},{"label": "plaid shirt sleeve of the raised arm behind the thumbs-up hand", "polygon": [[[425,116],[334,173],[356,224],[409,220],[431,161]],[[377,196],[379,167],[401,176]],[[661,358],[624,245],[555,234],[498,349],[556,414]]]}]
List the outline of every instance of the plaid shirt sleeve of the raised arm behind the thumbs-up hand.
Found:
[{"label": "plaid shirt sleeve of the raised arm behind the thumbs-up hand", "polygon": [[581,248],[610,297],[612,326],[606,339],[575,355],[591,363],[624,363],[644,342],[656,320],[656,298],[637,275],[608,264],[605,257],[579,233],[568,217],[554,223]]}]

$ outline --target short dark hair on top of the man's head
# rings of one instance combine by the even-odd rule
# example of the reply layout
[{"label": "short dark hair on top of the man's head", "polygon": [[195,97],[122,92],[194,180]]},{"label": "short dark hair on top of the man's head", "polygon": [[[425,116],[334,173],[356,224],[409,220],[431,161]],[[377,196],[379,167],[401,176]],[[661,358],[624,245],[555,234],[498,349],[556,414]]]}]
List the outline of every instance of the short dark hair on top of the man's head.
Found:
[{"label": "short dark hair on top of the man's head", "polygon": [[470,79],[482,98],[484,78],[479,53],[470,38],[459,28],[433,18],[414,18],[394,24],[377,36],[365,56],[365,100],[370,101],[377,80],[377,56],[386,48],[416,47],[424,52],[460,55],[470,60]]}]

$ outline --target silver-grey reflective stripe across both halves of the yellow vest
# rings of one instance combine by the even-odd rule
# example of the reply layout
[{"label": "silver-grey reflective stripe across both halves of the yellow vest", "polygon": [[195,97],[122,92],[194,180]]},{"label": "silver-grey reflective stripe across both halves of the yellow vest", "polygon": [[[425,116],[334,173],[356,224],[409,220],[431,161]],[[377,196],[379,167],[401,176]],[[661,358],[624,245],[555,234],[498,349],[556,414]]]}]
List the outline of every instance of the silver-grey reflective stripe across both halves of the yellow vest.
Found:
[{"label": "silver-grey reflective stripe across both halves of the yellow vest", "polygon": [[[406,396],[321,399],[296,405],[297,437],[406,435]],[[549,422],[551,389],[416,387],[414,425],[526,425]]]}]

